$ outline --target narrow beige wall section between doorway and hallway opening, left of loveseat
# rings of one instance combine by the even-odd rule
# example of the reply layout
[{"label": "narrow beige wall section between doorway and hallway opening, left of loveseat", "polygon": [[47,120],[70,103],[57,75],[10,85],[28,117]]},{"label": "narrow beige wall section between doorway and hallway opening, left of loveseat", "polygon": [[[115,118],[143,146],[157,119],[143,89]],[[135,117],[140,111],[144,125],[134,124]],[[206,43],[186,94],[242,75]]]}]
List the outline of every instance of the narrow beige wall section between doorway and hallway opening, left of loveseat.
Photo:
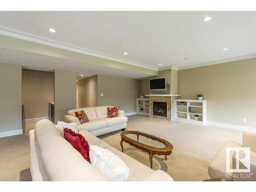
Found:
[{"label": "narrow beige wall section between doorway and hallway opening, left of loveseat", "polygon": [[68,110],[76,109],[76,72],[54,72],[54,121],[63,121]]}]

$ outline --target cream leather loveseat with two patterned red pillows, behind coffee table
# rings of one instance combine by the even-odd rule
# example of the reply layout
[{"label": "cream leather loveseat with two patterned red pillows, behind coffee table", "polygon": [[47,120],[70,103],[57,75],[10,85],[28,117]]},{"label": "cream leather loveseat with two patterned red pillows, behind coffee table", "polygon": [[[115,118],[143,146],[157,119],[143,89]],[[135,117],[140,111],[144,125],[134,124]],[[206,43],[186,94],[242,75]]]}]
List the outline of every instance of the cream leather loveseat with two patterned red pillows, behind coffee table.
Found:
[{"label": "cream leather loveseat with two patterned red pillows, behind coffee table", "polygon": [[[119,117],[107,118],[108,107],[113,106],[94,106],[90,108],[69,110],[68,115],[65,115],[65,122],[75,122],[78,131],[86,130],[95,136],[116,130],[124,130],[127,122],[127,117],[124,116],[124,111],[118,110]],[[89,122],[81,124],[79,119],[75,116],[75,112],[81,110],[86,113]]]}]

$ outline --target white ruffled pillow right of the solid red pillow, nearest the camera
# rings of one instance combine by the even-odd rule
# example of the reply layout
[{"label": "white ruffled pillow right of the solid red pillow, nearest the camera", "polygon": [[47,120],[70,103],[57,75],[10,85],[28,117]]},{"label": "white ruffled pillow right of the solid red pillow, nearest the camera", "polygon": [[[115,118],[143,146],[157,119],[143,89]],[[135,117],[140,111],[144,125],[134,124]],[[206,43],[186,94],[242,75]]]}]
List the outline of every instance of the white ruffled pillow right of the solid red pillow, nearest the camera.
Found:
[{"label": "white ruffled pillow right of the solid red pillow, nearest the camera", "polygon": [[114,153],[90,144],[91,164],[110,181],[130,181],[130,169]]}]

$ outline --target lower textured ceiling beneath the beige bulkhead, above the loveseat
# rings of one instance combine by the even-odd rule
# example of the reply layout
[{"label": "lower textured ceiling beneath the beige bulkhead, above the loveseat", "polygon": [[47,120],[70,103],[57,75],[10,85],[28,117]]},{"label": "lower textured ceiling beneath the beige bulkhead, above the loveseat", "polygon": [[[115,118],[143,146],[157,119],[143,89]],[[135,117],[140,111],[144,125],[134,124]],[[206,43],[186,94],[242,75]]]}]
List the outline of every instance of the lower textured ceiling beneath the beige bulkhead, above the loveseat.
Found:
[{"label": "lower textured ceiling beneath the beige bulkhead, above the loveseat", "polygon": [[[149,75],[144,73],[135,73],[121,69],[92,65],[59,57],[40,55],[6,48],[0,48],[0,63],[10,63],[23,66],[25,69],[41,71],[53,71],[54,69],[75,71],[77,72],[77,79],[96,74],[134,79],[149,77]],[[80,76],[81,74],[83,75],[82,77]]]}]

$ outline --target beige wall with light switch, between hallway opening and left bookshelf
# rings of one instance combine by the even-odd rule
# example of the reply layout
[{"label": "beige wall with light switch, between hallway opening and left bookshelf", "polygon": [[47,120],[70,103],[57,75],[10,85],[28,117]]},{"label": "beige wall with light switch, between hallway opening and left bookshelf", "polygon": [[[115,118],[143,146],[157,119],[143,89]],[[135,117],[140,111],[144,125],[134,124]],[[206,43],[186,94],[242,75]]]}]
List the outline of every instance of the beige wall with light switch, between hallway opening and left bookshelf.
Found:
[{"label": "beige wall with light switch, between hallway opening and left bookshelf", "polygon": [[137,79],[98,75],[99,106],[114,105],[125,113],[136,112],[136,98],[139,95],[140,82]]}]

